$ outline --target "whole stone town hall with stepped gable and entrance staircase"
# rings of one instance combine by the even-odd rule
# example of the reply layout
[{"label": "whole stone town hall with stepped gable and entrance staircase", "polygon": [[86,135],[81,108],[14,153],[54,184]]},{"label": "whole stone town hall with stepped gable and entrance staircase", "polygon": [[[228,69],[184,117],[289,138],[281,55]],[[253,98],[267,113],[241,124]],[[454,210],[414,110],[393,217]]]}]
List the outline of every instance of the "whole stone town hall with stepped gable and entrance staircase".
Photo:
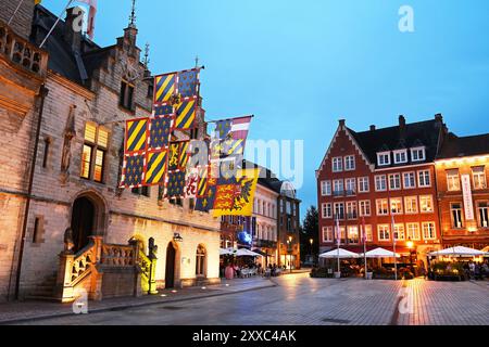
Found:
[{"label": "whole stone town hall with stepped gable and entrance staircase", "polygon": [[8,25],[17,3],[0,1],[0,300],[140,294],[150,237],[159,287],[218,281],[217,219],[158,187],[117,189],[122,120],[152,103],[135,22],[101,48],[73,30],[70,9],[39,49],[57,16],[24,1]]}]

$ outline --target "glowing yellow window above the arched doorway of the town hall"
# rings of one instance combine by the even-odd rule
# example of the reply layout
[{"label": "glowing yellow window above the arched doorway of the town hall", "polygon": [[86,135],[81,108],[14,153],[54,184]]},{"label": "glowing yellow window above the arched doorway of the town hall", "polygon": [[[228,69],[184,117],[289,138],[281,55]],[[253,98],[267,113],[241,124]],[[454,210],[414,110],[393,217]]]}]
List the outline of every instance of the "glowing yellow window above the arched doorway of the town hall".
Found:
[{"label": "glowing yellow window above the arched doorway of the town hall", "polygon": [[95,124],[87,123],[84,132],[80,177],[103,182],[105,156],[109,147],[109,131]]}]

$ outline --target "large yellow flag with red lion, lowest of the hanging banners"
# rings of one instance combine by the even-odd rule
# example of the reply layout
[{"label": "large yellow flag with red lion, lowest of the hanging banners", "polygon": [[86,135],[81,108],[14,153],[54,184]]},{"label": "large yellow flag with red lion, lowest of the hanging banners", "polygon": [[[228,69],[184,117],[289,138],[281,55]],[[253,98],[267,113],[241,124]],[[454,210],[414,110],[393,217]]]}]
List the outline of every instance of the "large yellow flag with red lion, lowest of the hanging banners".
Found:
[{"label": "large yellow flag with red lion, lowest of the hanging banners", "polygon": [[228,183],[218,183],[215,190],[213,216],[243,216],[253,214],[254,193],[260,169],[240,169]]}]

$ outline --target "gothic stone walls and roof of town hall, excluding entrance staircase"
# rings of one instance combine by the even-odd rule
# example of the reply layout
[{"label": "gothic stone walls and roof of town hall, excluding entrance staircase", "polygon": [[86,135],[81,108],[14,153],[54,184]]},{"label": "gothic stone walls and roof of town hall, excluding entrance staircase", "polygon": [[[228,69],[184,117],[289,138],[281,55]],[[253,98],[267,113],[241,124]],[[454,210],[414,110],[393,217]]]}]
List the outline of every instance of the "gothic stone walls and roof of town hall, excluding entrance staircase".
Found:
[{"label": "gothic stone walls and roof of town hall, excluding entrance staircase", "polygon": [[[30,2],[25,2],[16,18],[29,21],[29,24],[14,27],[20,30],[20,38],[30,36],[38,44],[55,18],[42,7],[34,12]],[[2,9],[7,8],[5,3],[10,1],[2,0]],[[156,268],[160,287],[167,279],[165,256],[170,245],[176,249],[174,268],[170,269],[174,271],[171,281],[175,286],[217,282],[218,220],[209,214],[191,211],[189,202],[180,206],[159,201],[158,187],[134,192],[117,189],[124,140],[124,121],[121,120],[143,117],[151,112],[152,81],[140,63],[136,27],[126,28],[116,44],[99,48],[71,30],[70,13],[48,40],[47,52],[39,51],[42,59],[49,53],[48,67],[40,73],[32,73],[5,54],[0,55],[1,298],[14,293],[17,271],[21,271],[21,297],[37,294],[52,283],[58,255],[63,250],[64,231],[74,222],[82,229],[79,224],[88,223],[89,234],[101,235],[106,243],[127,244],[131,237],[147,243],[149,237],[154,237],[160,247]],[[1,20],[8,16],[2,11]],[[32,35],[30,23],[34,23]],[[59,47],[68,47],[68,50],[57,51]],[[75,57],[64,61],[66,55]],[[42,108],[33,190],[28,194],[42,83],[48,93]],[[131,92],[127,93],[129,87]],[[4,98],[9,99],[3,102]],[[89,149],[93,153],[91,156],[87,155]],[[30,207],[22,268],[18,269],[28,198]],[[175,242],[175,234],[183,241]],[[83,240],[78,241],[83,246]],[[205,249],[203,277],[196,274],[199,246]]]}]

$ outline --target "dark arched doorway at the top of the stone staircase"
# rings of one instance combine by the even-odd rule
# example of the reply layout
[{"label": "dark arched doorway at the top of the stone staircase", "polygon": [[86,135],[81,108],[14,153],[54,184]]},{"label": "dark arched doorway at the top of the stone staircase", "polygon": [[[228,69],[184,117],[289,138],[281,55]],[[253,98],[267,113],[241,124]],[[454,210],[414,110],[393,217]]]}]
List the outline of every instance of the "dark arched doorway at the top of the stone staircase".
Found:
[{"label": "dark arched doorway at the top of the stone staircase", "polygon": [[88,245],[88,237],[93,234],[95,215],[95,205],[87,197],[79,197],[73,204],[72,230],[75,253]]}]

